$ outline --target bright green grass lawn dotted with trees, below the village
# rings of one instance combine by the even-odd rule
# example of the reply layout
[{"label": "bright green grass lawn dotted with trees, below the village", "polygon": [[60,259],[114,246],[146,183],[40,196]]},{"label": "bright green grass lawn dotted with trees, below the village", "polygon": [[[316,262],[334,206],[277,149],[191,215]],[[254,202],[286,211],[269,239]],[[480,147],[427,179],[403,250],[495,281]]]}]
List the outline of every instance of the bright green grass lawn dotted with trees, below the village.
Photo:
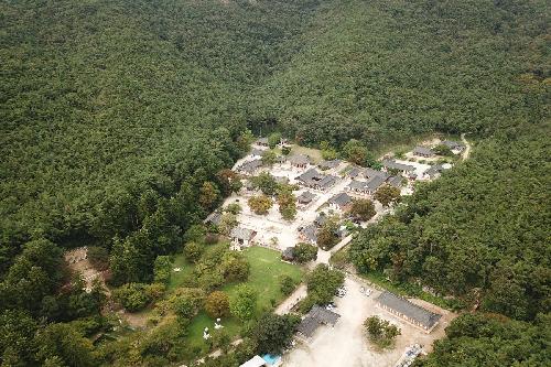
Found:
[{"label": "bright green grass lawn dotted with trees, below the village", "polygon": [[[259,316],[264,311],[272,310],[272,300],[274,304],[279,304],[283,301],[284,295],[281,293],[279,288],[280,276],[288,274],[296,282],[302,280],[303,270],[298,266],[281,261],[281,255],[278,251],[263,247],[251,247],[246,249],[242,253],[250,263],[250,276],[246,283],[258,292],[256,316]],[[173,273],[169,285],[170,290],[174,290],[182,283],[182,280],[185,278],[185,272],[190,273],[193,271],[192,267],[185,262],[183,256],[177,256],[175,258],[174,267],[176,268],[180,266],[182,267],[182,270],[186,270],[182,271],[184,274],[182,274],[182,272]],[[187,268],[190,270],[187,270]],[[226,284],[222,290],[231,299],[235,294],[237,285],[238,283]],[[241,323],[235,317],[225,317],[223,319],[222,324],[225,327],[224,330],[231,337],[239,334]],[[214,320],[210,319],[205,312],[201,312],[192,320],[192,323],[187,328],[187,342],[190,346],[192,348],[196,348],[197,350],[201,349],[201,354],[206,353],[208,349],[205,341],[203,339],[203,331],[205,327],[208,327],[209,331],[213,332]]]}]

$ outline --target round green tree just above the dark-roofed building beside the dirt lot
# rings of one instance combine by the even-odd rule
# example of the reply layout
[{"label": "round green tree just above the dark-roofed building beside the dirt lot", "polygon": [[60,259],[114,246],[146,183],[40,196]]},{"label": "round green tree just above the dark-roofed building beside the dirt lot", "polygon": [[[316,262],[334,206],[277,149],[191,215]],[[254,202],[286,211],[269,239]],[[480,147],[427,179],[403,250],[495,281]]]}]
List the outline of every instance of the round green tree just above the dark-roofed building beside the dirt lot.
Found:
[{"label": "round green tree just above the dark-roofed building beside the dirt lot", "polygon": [[306,277],[309,298],[313,303],[326,304],[333,300],[336,290],[343,284],[344,274],[318,265]]}]

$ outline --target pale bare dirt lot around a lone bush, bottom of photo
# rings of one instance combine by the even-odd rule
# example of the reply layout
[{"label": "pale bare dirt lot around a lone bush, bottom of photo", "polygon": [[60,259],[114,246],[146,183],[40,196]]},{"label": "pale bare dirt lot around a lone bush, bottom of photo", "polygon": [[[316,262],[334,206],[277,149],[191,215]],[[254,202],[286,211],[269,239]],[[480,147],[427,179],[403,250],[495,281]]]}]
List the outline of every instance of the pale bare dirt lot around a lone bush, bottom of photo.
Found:
[{"label": "pale bare dirt lot around a lone bush, bottom of photo", "polygon": [[[374,290],[370,296],[360,293],[361,283],[347,277],[345,287],[347,294],[336,298],[337,312],[341,319],[335,327],[321,326],[309,343],[298,345],[288,355],[283,356],[285,367],[390,367],[401,358],[406,348],[412,344],[420,344],[429,352],[434,339],[444,336],[444,328],[456,316],[423,301],[414,301],[426,309],[443,315],[441,323],[425,334],[401,319],[379,309],[375,298],[380,294]],[[421,302],[421,303],[420,303]],[[378,352],[369,345],[363,323],[371,316],[378,315],[398,325],[401,335],[396,339],[396,347],[391,350]]]}]

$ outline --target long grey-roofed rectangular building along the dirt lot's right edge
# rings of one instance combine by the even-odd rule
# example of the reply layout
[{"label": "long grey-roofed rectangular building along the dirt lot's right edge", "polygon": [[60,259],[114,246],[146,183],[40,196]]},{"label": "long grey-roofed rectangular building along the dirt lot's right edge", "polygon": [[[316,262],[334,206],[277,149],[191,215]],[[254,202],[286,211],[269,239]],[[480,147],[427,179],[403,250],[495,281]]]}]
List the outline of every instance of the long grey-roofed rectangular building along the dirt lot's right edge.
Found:
[{"label": "long grey-roofed rectangular building along the dirt lot's right edge", "polygon": [[421,327],[425,333],[432,332],[442,317],[437,313],[425,310],[388,291],[382,292],[375,301],[379,307],[403,319],[410,324]]}]

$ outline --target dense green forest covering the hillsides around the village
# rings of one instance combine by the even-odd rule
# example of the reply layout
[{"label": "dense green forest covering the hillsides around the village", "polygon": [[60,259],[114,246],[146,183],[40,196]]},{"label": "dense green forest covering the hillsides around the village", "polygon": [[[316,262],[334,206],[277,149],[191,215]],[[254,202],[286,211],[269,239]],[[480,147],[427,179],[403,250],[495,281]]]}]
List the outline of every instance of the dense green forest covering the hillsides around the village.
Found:
[{"label": "dense green forest covering the hillsides around the village", "polygon": [[[543,0],[2,2],[0,363],[100,364],[88,337],[109,324],[105,298],[69,279],[63,250],[105,248],[114,285],[153,281],[158,256],[228,194],[220,171],[247,128],[335,149],[482,139],[350,252],[360,271],[534,333],[550,306],[549,12]],[[482,339],[461,333],[428,363]],[[158,365],[172,353],[148,348]],[[489,360],[501,346],[478,348]]]}]

